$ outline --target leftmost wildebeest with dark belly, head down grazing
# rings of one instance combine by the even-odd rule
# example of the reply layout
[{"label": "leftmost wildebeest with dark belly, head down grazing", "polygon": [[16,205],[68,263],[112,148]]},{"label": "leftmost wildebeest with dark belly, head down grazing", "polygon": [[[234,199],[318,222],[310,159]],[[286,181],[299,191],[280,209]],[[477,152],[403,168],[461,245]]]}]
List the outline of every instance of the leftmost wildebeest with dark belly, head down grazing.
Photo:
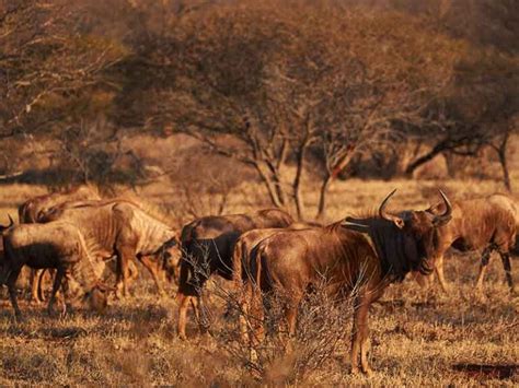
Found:
[{"label": "leftmost wildebeest with dark belly, head down grazing", "polygon": [[69,299],[68,281],[73,279],[83,289],[92,308],[105,308],[108,289],[97,281],[93,259],[88,252],[83,236],[74,225],[59,221],[19,226],[13,224],[11,220],[9,226],[0,226],[4,250],[0,284],[7,284],[18,319],[22,319],[22,313],[16,302],[15,282],[23,266],[56,269],[53,294],[48,303],[49,313],[64,278],[66,301]]}]

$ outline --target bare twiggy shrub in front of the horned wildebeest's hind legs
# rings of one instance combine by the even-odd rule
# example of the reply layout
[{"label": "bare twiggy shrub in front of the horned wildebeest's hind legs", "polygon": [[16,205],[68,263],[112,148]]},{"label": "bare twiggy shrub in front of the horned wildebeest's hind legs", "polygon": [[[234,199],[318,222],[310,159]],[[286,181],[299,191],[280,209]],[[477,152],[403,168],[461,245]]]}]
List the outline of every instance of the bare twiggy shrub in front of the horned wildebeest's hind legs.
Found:
[{"label": "bare twiggy shrub in front of the horned wildebeest's hind legs", "polygon": [[[191,263],[194,268],[194,284],[197,284],[200,277],[208,278],[207,260]],[[208,330],[217,343],[229,353],[231,360],[250,369],[263,384],[298,384],[311,378],[313,373],[318,373],[319,378],[322,378],[326,371],[323,366],[349,339],[355,291],[341,297],[331,296],[327,293],[330,284],[324,281],[324,277],[300,303],[297,330],[292,338],[289,338],[286,325],[281,324],[285,321],[287,301],[282,293],[263,294],[263,306],[244,311],[243,295],[230,286],[230,282],[224,283],[212,282],[211,287],[198,289],[200,299],[208,301],[209,293],[212,296],[211,303],[200,303],[200,311],[196,317],[198,325]],[[218,320],[214,311],[216,305],[226,306],[228,325],[212,331],[210,328]],[[256,338],[247,346],[243,343],[243,333],[237,328],[238,317],[244,317],[246,336],[254,337],[257,336],[258,325],[263,320],[264,308],[267,336],[263,341]]]}]

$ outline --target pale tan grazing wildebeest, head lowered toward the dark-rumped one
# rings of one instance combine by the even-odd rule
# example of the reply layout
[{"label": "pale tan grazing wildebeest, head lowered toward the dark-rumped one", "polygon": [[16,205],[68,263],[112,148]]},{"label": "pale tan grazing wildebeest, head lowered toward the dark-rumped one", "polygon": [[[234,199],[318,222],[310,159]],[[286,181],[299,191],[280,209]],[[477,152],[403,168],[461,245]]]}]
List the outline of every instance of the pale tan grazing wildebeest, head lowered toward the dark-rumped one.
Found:
[{"label": "pale tan grazing wildebeest, head lowered toward the dark-rumped one", "polygon": [[80,203],[57,207],[42,217],[44,222],[56,220],[74,224],[96,258],[107,260],[117,256],[117,284],[123,283],[124,295],[128,293],[128,263],[134,258],[150,271],[159,293],[164,293],[153,260],[176,255],[177,234],[138,204],[126,200]]}]

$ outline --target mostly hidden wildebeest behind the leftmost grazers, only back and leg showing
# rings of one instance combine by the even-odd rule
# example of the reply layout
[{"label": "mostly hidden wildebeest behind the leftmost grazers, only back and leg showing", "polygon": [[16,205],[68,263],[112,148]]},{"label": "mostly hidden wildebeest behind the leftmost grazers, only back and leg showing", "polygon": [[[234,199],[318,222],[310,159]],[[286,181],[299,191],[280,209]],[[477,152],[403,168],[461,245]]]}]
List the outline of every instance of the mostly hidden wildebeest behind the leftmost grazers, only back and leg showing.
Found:
[{"label": "mostly hidden wildebeest behind the leftmost grazers, only back and leg showing", "polygon": [[[68,201],[100,200],[101,197],[96,190],[89,186],[80,186],[64,192],[51,192],[31,198],[18,208],[18,216],[21,224],[33,224],[38,222],[51,208]],[[41,293],[41,280],[44,271],[31,270],[31,298],[33,302],[41,303],[44,295]]]}]

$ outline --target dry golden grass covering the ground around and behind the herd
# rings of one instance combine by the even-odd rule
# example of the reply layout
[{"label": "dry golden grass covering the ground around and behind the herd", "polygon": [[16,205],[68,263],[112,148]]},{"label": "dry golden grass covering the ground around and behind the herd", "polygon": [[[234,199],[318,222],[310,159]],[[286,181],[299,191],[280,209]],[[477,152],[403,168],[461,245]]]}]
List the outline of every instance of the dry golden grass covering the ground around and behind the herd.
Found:
[{"label": "dry golden grass covering the ground around and behind the herd", "polygon": [[[516,180],[517,185],[518,181]],[[330,219],[372,205],[393,187],[400,195],[392,205],[423,207],[436,201],[436,187],[466,197],[498,190],[497,183],[468,181],[347,181],[331,193]],[[517,186],[516,186],[517,187]],[[166,203],[164,188],[149,188],[148,198]],[[250,188],[247,188],[250,189]],[[252,189],[251,189],[252,190]],[[24,196],[39,188],[3,187],[2,210],[14,212]],[[243,192],[243,190],[242,190]],[[233,198],[229,211],[250,205],[251,198]],[[168,203],[166,203],[168,204]],[[0,213],[0,222],[5,222]],[[485,296],[476,297],[473,284],[477,255],[454,255],[446,260],[452,292],[443,295],[437,284],[420,290],[406,280],[391,286],[371,310],[371,378],[349,374],[349,340],[344,341],[321,368],[310,371],[299,385],[419,386],[519,384],[519,299],[504,284],[500,260],[491,261]],[[514,260],[515,280],[519,263]],[[16,324],[9,302],[1,301],[0,385],[261,385],[247,366],[228,352],[238,324],[224,318],[224,303],[206,294],[212,317],[211,333],[200,336],[192,321],[182,342],[175,337],[173,297],[159,299],[146,271],[134,287],[135,296],[113,302],[104,316],[79,309],[62,319],[48,318],[44,307],[22,304],[27,322]],[[223,284],[224,282],[222,282]],[[211,284],[210,284],[211,285]],[[215,286],[215,284],[212,284]],[[174,296],[170,287],[169,295]],[[350,331],[350,324],[344,330]],[[349,337],[347,337],[349,338]],[[345,357],[346,355],[346,357]],[[514,366],[512,369],[473,369],[473,365]],[[284,384],[293,363],[279,360],[268,383]],[[468,366],[469,365],[469,366]],[[266,383],[266,380],[263,380]]]}]

